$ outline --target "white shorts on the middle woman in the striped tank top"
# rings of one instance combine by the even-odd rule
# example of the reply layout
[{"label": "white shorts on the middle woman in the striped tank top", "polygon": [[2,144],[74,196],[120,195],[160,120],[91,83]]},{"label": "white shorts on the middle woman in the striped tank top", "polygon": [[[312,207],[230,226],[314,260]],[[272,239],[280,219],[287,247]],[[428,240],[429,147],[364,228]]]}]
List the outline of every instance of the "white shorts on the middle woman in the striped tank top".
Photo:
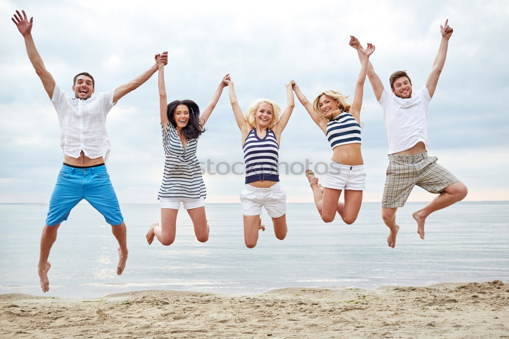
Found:
[{"label": "white shorts on the middle woman in the striped tank top", "polygon": [[279,218],[286,214],[286,193],[278,182],[268,188],[246,184],[240,192],[240,201],[244,215],[260,215],[262,206],[271,218]]}]

